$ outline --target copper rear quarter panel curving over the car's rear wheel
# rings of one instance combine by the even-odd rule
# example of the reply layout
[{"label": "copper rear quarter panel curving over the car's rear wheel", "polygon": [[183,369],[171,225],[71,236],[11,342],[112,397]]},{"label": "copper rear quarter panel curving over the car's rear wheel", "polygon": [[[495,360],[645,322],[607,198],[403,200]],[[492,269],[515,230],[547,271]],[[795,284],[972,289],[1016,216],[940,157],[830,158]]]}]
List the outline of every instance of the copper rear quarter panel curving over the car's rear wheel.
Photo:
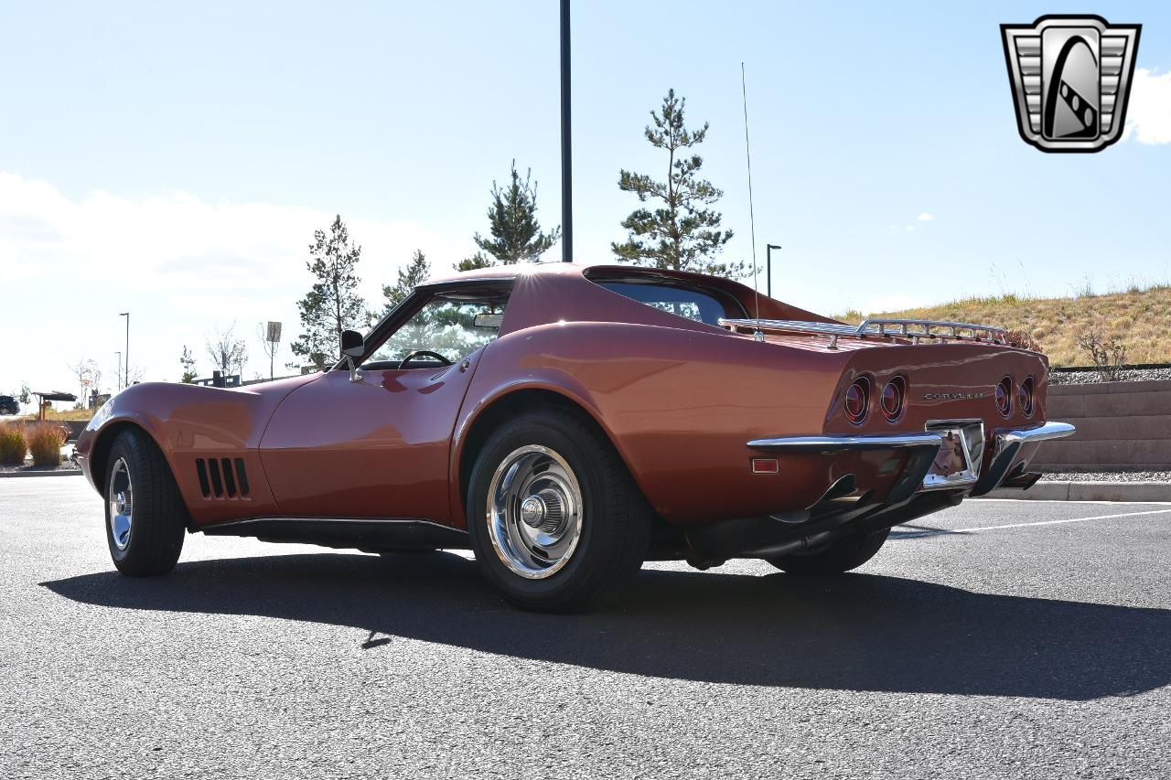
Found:
[{"label": "copper rear quarter panel curving over the car's rear wheel", "polygon": [[[760,436],[821,432],[847,360],[714,329],[567,322],[513,331],[492,345],[473,379],[453,463],[485,408],[507,392],[543,388],[594,416],[669,521],[800,508],[848,464],[806,459],[783,477],[766,478],[752,473],[745,445]],[[815,479],[806,473],[810,467]]]}]

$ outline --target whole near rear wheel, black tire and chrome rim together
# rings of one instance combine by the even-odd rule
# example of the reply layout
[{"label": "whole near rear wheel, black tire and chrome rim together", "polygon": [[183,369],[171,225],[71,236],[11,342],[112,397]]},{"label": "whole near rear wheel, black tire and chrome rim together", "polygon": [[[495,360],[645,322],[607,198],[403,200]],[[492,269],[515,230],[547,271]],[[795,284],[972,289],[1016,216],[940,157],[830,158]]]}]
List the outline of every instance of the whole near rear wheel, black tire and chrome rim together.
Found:
[{"label": "whole near rear wheel, black tire and chrome rim together", "polygon": [[547,410],[489,437],[472,471],[467,526],[480,570],[506,598],[573,611],[635,576],[651,513],[604,436]]}]

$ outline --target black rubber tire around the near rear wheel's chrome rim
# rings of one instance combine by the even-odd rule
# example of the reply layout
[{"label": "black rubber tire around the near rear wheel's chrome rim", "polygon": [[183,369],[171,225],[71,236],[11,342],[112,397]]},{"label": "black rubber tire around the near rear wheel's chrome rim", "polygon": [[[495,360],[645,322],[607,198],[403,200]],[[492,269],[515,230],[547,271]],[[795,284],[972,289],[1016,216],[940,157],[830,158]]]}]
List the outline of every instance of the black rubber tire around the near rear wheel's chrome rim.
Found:
[{"label": "black rubber tire around the near rear wheel's chrome rim", "polygon": [[[497,470],[519,449],[547,447],[571,470],[581,491],[576,547],[555,573],[526,579],[493,546],[488,491]],[[610,442],[590,423],[562,410],[508,420],[485,443],[467,494],[472,550],[484,576],[512,603],[535,611],[578,611],[626,586],[650,543],[651,509]],[[519,527],[519,525],[518,525]]]}]

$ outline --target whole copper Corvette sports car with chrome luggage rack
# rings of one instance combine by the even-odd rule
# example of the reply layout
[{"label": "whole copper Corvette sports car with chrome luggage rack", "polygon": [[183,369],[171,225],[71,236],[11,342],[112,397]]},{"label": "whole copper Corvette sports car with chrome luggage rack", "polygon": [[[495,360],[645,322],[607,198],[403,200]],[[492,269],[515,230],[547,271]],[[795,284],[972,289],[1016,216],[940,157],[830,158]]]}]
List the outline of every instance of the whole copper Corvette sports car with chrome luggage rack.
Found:
[{"label": "whole copper Corvette sports car with chrome luggage rack", "polygon": [[[759,307],[759,309],[758,309]],[[430,280],[329,371],[139,384],[77,444],[115,566],[184,532],[464,548],[511,601],[582,608],[648,560],[869,560],[891,526],[1025,488],[1047,362],[991,326],[849,326],[697,274],[568,264]]]}]

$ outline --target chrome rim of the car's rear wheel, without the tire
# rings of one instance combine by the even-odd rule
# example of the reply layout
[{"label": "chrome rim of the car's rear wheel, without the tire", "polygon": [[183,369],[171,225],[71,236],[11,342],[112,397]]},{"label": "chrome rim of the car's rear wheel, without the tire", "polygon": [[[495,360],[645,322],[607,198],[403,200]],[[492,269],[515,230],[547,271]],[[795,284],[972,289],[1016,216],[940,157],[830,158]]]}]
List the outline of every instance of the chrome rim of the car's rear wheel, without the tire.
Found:
[{"label": "chrome rim of the car's rear wheel, without the tire", "polygon": [[577,549],[582,490],[566,459],[549,447],[529,444],[509,453],[492,475],[487,504],[492,547],[514,574],[553,576]]}]

